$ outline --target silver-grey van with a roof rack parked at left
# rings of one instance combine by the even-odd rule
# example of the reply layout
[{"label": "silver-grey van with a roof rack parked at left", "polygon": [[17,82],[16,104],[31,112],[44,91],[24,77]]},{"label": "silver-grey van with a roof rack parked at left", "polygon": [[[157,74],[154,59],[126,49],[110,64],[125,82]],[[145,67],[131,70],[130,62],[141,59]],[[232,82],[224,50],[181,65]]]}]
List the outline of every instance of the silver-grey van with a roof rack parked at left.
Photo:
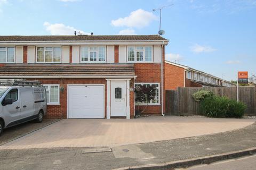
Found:
[{"label": "silver-grey van with a roof rack parked at left", "polygon": [[3,129],[36,120],[46,114],[46,91],[38,81],[14,80],[0,84],[0,134]]}]

